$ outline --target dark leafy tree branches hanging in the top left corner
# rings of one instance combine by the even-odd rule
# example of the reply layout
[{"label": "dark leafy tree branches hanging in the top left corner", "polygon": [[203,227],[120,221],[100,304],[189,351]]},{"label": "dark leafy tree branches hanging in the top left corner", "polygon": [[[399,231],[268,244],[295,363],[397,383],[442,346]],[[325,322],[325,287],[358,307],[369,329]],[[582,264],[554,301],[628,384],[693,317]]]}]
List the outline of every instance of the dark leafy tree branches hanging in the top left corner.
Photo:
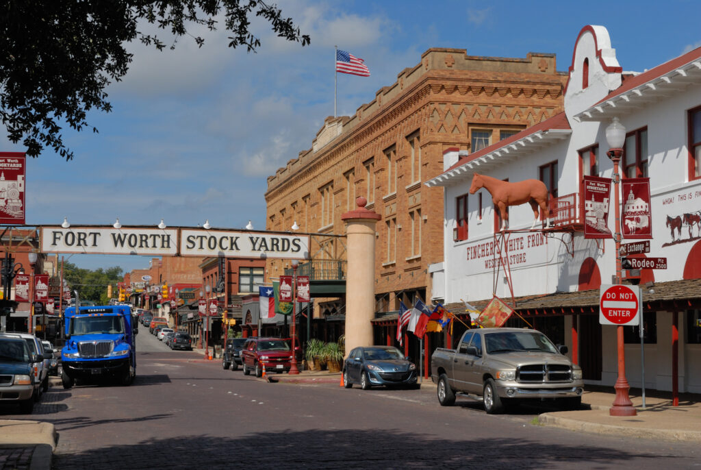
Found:
[{"label": "dark leafy tree branches hanging in the top left corner", "polygon": [[[292,18],[262,0],[5,0],[0,5],[0,118],[9,139],[22,140],[35,157],[52,147],[62,158],[73,158],[61,126],[80,131],[90,127],[90,109],[111,110],[104,90],[128,72],[132,54],[126,43],[172,49],[180,37],[192,36],[188,27],[213,31],[223,18],[232,34],[229,47],[254,52],[261,43],[249,32],[251,15],[267,20],[288,41],[310,42]],[[175,41],[167,46],[139,31],[145,22]],[[192,37],[203,46],[203,38]]]}]

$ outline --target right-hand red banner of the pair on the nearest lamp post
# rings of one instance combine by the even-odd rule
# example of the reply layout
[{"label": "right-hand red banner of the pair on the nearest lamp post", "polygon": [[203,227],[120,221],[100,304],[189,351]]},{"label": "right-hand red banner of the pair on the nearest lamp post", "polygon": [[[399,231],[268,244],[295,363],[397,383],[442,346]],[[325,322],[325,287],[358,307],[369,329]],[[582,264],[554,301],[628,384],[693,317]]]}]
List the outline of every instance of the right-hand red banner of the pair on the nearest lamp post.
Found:
[{"label": "right-hand red banner of the pair on the nearest lamp post", "polygon": [[620,229],[624,239],[653,238],[650,178],[627,178],[620,182],[623,196]]}]

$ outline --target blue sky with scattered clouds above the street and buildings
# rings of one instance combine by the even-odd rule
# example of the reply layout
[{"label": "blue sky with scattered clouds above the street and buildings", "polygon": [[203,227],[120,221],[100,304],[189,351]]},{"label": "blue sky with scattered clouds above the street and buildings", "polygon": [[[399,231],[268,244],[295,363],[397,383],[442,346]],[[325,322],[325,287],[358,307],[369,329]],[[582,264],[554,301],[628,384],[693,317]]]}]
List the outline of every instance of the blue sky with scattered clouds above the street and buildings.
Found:
[{"label": "blue sky with scattered clouds above the street and buildings", "polygon": [[[75,152],[50,150],[27,166],[27,223],[265,225],[266,177],[311,140],[334,112],[334,45],[372,76],[339,74],[339,115],[432,47],[469,55],[557,54],[566,71],[585,25],[603,25],[625,71],[643,72],[701,46],[698,1],[278,1],[311,46],[276,38],[253,20],[258,53],[226,47],[226,32],[196,32],[175,51],[131,44],[129,74],[107,89],[114,112],[94,113],[100,133],[67,130]],[[146,28],[147,26],[144,26]],[[167,36],[160,32],[163,39]],[[2,135],[5,151],[22,152]],[[148,267],[146,257],[76,255],[81,267]]]}]

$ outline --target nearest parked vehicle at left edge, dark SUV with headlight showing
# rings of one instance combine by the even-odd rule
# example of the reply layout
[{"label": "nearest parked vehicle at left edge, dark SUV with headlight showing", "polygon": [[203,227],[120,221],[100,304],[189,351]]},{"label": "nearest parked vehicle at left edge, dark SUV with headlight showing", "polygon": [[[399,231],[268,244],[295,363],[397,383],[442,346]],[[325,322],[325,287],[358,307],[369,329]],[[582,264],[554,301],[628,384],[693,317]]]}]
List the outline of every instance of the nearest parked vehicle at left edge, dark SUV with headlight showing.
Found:
[{"label": "nearest parked vehicle at left edge, dark SUV with headlight showing", "polygon": [[0,337],[0,403],[18,403],[20,411],[34,410],[34,364],[40,361],[20,337]]}]

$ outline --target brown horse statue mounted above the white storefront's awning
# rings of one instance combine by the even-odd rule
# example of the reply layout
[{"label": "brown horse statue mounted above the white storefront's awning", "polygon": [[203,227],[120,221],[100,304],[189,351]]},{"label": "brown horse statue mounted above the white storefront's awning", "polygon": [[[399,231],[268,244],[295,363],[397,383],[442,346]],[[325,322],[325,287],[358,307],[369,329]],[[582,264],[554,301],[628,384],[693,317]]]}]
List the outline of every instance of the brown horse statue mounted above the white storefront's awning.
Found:
[{"label": "brown horse statue mounted above the white storefront's awning", "polygon": [[509,214],[506,208],[525,203],[531,204],[533,215],[535,215],[531,229],[536,227],[536,222],[538,222],[538,207],[540,207],[540,215],[545,219],[545,227],[550,227],[550,209],[547,207],[547,188],[544,182],[539,180],[508,182],[475,173],[472,176],[470,194],[475,194],[481,188],[486,189],[491,194],[491,200],[499,208],[501,231],[508,227],[509,223]]}]

